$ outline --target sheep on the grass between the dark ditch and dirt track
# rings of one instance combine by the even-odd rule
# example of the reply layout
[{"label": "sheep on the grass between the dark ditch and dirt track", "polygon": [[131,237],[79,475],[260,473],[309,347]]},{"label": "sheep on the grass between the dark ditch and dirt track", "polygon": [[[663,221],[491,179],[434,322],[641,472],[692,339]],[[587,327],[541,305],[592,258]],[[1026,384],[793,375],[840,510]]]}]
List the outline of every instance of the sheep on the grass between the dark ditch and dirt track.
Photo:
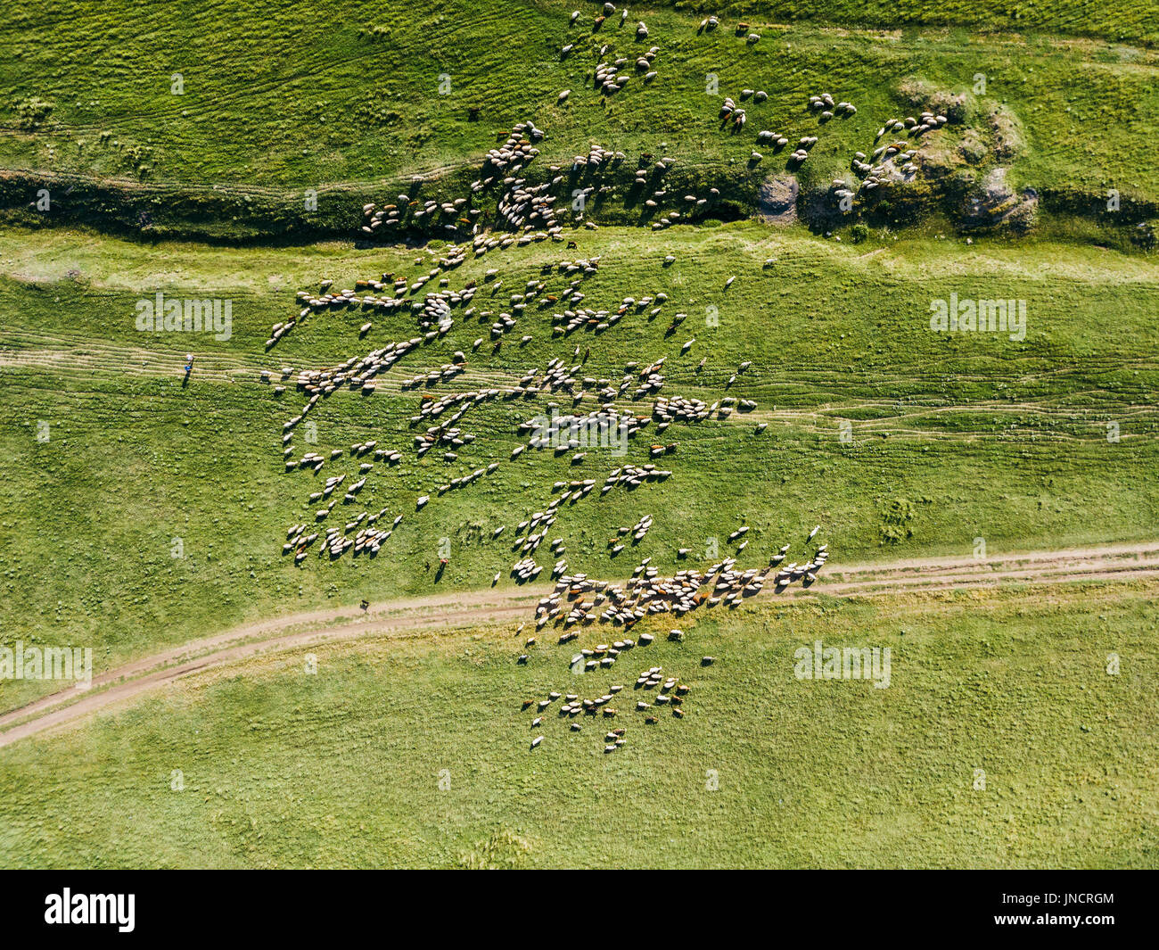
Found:
[{"label": "sheep on the grass between the dark ditch and dirt track", "polygon": [[[440,267],[437,270],[443,273],[452,269],[458,266],[459,261],[460,258],[452,253],[442,260]],[[561,295],[548,295],[544,298],[544,302],[547,304],[560,302],[575,303],[582,299],[581,282],[584,277],[596,274],[597,269],[598,258],[560,262],[553,270],[556,270],[566,278],[573,274],[577,274],[578,276],[569,281]],[[488,280],[494,281],[493,297],[495,296],[495,288],[501,283],[500,281],[495,281],[497,271],[488,271]],[[407,340],[388,342],[363,355],[352,356],[334,367],[302,369],[298,370],[297,374],[293,368],[283,367],[280,378],[277,380],[276,392],[278,394],[283,393],[285,391],[284,384],[294,379],[296,389],[305,398],[301,411],[283,425],[282,451],[284,467],[287,472],[308,471],[311,474],[318,476],[328,463],[336,462],[348,455],[344,449],[331,449],[327,454],[311,449],[301,455],[297,455],[293,441],[294,435],[323,400],[329,399],[340,390],[353,391],[363,396],[372,394],[378,386],[380,376],[399,363],[400,360],[417,353],[424,345],[445,336],[455,325],[455,317],[452,316],[455,313],[461,314],[461,319],[464,320],[489,324],[489,335],[493,341],[491,353],[497,353],[504,336],[518,324],[518,319],[523,317],[526,306],[534,302],[547,285],[546,281],[527,282],[522,292],[511,296],[510,312],[504,311],[496,314],[490,310],[482,310],[474,305],[473,298],[478,288],[473,282],[461,291],[455,291],[443,287],[444,282],[439,281],[439,289],[418,296],[420,291],[425,287],[427,281],[408,283],[400,278],[394,281],[393,284],[394,292],[399,296],[382,296],[382,290],[389,283],[389,278],[391,275],[382,275],[382,280],[380,281],[357,282],[358,284],[363,284],[367,291],[362,295],[357,292],[357,285],[352,290],[333,291],[330,282],[325,281],[316,295],[308,292],[299,293],[299,299],[305,306],[293,324],[280,325],[275,328],[275,334],[280,329],[282,335],[284,335],[284,332],[290,326],[297,325],[299,320],[305,319],[312,313],[360,307],[364,311],[369,310],[387,314],[409,312],[413,319],[417,321],[417,329],[421,334]],[[584,319],[588,322],[595,321],[596,332],[602,332],[600,327],[610,328],[619,319],[632,313],[647,313],[654,317],[659,312],[665,302],[666,295],[664,293],[658,293],[655,297],[644,296],[639,299],[628,297],[614,311],[583,311],[585,314],[590,314]],[[568,326],[571,326],[571,320],[576,314],[576,311],[569,309],[553,316],[552,320],[559,335],[567,335],[569,332]],[[495,319],[496,317],[497,319]],[[677,314],[677,317],[679,318],[681,314]],[[359,329],[359,338],[365,338],[371,329],[372,322],[364,324]],[[478,351],[482,347],[483,341],[484,338],[478,338],[472,350]],[[683,351],[686,353],[687,347]],[[578,348],[576,355],[578,355]],[[432,389],[439,384],[451,383],[464,371],[465,365],[466,354],[457,350],[452,356],[451,363],[444,364],[436,370],[403,379],[400,383],[400,389],[402,391],[416,387]],[[421,458],[432,449],[439,449],[445,463],[457,462],[459,450],[472,444],[476,438],[473,433],[466,432],[461,427],[461,420],[471,408],[490,400],[526,400],[535,399],[539,396],[567,393],[571,397],[574,406],[585,399],[596,401],[598,408],[586,414],[555,414],[547,425],[539,425],[535,420],[530,420],[518,427],[518,432],[526,435],[527,438],[511,451],[510,458],[512,461],[518,458],[526,449],[554,449],[556,456],[570,452],[571,464],[578,464],[583,461],[586,454],[575,450],[586,447],[589,437],[592,434],[597,436],[599,434],[622,434],[624,438],[633,438],[653,421],[656,422],[656,429],[659,433],[668,428],[672,421],[699,421],[709,418],[713,413],[716,413],[720,418],[727,418],[732,411],[732,406],[737,405],[737,400],[734,397],[724,397],[712,406],[706,406],[702,401],[695,399],[659,396],[658,393],[665,382],[664,375],[661,371],[663,365],[663,358],[643,368],[637,363],[628,363],[625,367],[624,375],[619,379],[614,379],[583,376],[582,363],[569,364],[560,357],[553,357],[544,371],[532,369],[517,379],[513,379],[510,385],[451,392],[440,397],[424,393],[420,398],[417,413],[410,416],[410,425],[413,427],[428,423],[422,432],[416,433],[413,437],[415,455]],[[704,365],[704,361],[701,361],[700,365]],[[744,367],[738,368],[739,371],[743,371],[743,369]],[[263,383],[275,383],[274,375],[269,370],[263,371],[261,378]],[[735,378],[734,375],[732,379]],[[653,404],[648,412],[633,412],[617,406],[617,403],[621,400],[636,403],[649,398],[653,399]],[[739,405],[743,407],[756,406],[755,403],[749,400],[741,400]],[[653,457],[657,457],[672,452],[675,449],[676,443],[657,443],[650,448],[649,454]],[[357,505],[359,492],[366,485],[367,479],[376,476],[376,466],[388,470],[402,462],[402,454],[399,449],[379,445],[377,441],[351,445],[349,457],[358,463],[357,478],[352,478],[342,492],[336,492],[343,485],[347,476],[330,477],[319,491],[309,494],[309,502],[320,502],[322,505],[322,507],[316,507],[314,510],[314,523],[321,524],[326,522],[325,530],[322,532],[312,531],[307,524],[294,524],[287,532],[283,550],[286,553],[292,552],[297,563],[301,563],[307,550],[319,541],[320,536],[322,539],[318,550],[322,557],[329,556],[330,558],[336,558],[351,550],[355,554],[365,551],[373,556],[378,552],[381,544],[391,537],[391,532],[402,518],[401,514],[398,515],[391,527],[384,529],[376,527],[376,523],[384,516],[385,512],[373,514],[364,510],[350,518],[343,518],[344,528],[329,523],[331,514],[340,501],[347,506]],[[431,486],[430,492],[416,496],[415,509],[422,509],[430,501],[432,494],[442,495],[455,488],[467,487],[480,478],[494,474],[497,469],[498,463],[491,463],[486,467],[476,469],[445,483],[438,483]],[[613,472],[613,476],[604,486],[604,491],[606,492],[612,486],[619,484],[634,486],[640,484],[642,479],[666,478],[670,473],[666,470],[656,470],[653,464],[639,471],[633,466],[621,466]],[[577,495],[584,494],[591,491],[593,483],[577,488],[575,492]],[[568,500],[569,496],[570,493],[564,493],[564,495],[555,499],[549,510],[554,512],[554,506]],[[496,531],[496,536],[500,531],[502,531],[502,528]],[[538,546],[538,537],[535,534],[531,534],[530,537],[519,539],[516,543],[518,552],[524,554],[533,553]],[[518,568],[518,566],[512,568],[512,573],[517,579],[522,580],[526,580],[532,575],[530,572]]]}]

